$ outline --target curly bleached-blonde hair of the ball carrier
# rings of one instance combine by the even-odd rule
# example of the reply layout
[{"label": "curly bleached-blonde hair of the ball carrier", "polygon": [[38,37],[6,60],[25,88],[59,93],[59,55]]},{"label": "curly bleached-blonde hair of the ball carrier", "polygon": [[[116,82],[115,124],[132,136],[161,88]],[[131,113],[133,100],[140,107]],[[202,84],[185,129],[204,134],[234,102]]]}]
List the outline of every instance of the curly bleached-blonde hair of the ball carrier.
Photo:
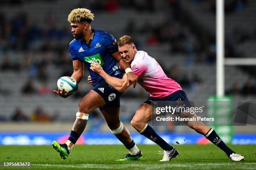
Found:
[{"label": "curly bleached-blonde hair of the ball carrier", "polygon": [[69,23],[87,21],[91,23],[94,18],[94,14],[86,8],[77,8],[70,12],[68,16]]}]

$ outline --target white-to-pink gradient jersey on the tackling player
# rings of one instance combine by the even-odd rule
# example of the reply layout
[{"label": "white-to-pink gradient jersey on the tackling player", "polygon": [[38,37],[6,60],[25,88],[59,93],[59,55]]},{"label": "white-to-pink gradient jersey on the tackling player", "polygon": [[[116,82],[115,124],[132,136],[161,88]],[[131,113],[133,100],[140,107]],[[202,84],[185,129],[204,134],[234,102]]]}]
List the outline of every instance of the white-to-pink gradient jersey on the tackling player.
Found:
[{"label": "white-to-pink gradient jersey on the tackling player", "polygon": [[162,98],[182,90],[179,83],[167,77],[158,62],[144,51],[136,53],[131,67],[139,76],[138,83],[150,93],[150,97]]}]

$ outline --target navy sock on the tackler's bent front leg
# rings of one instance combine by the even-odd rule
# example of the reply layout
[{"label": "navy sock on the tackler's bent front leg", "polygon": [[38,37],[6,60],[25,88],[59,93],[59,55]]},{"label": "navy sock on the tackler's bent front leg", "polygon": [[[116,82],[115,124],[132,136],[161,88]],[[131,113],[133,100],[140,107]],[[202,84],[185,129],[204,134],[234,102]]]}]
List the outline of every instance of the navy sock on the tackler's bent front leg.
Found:
[{"label": "navy sock on the tackler's bent front leg", "polygon": [[148,124],[146,129],[141,133],[146,138],[152,140],[154,143],[159,145],[163,150],[172,150],[173,147],[166,143],[159,135],[156,134],[155,130],[151,128]]}]

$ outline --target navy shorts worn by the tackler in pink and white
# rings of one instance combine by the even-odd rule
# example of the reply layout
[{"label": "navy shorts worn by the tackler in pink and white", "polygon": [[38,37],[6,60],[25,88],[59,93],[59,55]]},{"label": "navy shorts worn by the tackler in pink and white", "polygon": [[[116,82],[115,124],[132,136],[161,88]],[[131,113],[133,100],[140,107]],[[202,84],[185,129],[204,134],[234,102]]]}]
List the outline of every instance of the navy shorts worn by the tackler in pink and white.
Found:
[{"label": "navy shorts worn by the tackler in pink and white", "polygon": [[191,104],[187,98],[187,95],[183,90],[178,90],[162,98],[148,97],[148,100],[146,100],[144,103],[151,105],[151,101],[173,101],[174,106],[183,105],[183,107],[191,107]]}]

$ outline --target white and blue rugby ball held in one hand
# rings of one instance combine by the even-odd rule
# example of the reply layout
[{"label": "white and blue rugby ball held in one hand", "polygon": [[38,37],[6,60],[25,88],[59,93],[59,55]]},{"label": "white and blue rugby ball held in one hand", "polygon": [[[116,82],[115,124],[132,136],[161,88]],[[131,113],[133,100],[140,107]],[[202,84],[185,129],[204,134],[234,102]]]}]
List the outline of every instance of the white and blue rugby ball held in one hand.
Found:
[{"label": "white and blue rugby ball held in one hand", "polygon": [[69,76],[60,77],[57,81],[57,86],[61,91],[64,89],[64,92],[69,93],[75,92],[78,89],[77,81]]}]

